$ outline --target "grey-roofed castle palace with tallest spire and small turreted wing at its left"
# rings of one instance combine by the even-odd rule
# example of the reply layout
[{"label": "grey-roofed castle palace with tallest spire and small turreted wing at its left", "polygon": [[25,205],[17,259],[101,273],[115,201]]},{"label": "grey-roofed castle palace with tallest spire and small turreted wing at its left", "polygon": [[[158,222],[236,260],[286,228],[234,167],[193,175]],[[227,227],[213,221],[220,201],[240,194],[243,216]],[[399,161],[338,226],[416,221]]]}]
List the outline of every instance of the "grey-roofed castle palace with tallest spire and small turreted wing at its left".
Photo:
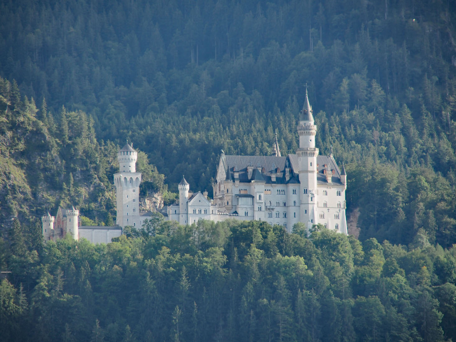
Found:
[{"label": "grey-roofed castle palace with tallest spire and small turreted wing at its left", "polygon": [[168,219],[180,224],[199,219],[223,221],[261,220],[283,225],[289,232],[298,222],[314,224],[347,234],[345,190],[347,174],[331,154],[318,155],[316,125],[307,97],[297,127],[296,154],[281,156],[277,136],[273,155],[225,155],[218,162],[214,198],[207,192],[190,193],[182,177],[179,202],[168,207]]}]

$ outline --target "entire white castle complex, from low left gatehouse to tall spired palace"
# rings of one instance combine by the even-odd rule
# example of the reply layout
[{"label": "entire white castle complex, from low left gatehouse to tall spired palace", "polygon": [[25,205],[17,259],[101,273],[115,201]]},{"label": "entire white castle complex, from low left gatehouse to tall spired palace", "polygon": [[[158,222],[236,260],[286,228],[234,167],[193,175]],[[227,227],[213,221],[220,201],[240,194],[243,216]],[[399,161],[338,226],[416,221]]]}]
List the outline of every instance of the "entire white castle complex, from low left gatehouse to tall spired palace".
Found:
[{"label": "entire white castle complex, from low left gatehouse to tall spired palace", "polygon": [[[266,221],[283,225],[289,232],[298,222],[307,229],[321,223],[324,227],[347,234],[345,190],[347,175],[339,170],[331,154],[318,155],[315,147],[316,125],[306,90],[306,100],[297,127],[299,148],[296,154],[281,156],[277,136],[273,155],[225,155],[218,162],[214,198],[207,192],[190,192],[182,176],[178,185],[179,201],[168,206],[168,220],[187,225],[200,219],[215,222],[233,218],[242,221]],[[41,218],[45,241],[71,234],[92,243],[109,243],[122,234],[122,228],[141,228],[150,212],[139,211],[141,173],[136,172],[138,153],[128,143],[118,152],[119,172],[116,187],[116,226],[81,226],[74,207],[58,209],[57,219],[47,213]],[[57,227],[54,223],[57,221]]]}]

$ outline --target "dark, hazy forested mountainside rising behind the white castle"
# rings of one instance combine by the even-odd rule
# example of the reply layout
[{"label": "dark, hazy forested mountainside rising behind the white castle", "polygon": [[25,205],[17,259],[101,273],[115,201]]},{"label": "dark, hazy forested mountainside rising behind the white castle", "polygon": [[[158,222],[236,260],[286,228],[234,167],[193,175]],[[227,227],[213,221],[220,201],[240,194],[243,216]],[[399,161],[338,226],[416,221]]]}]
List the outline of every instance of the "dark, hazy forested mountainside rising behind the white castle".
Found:
[{"label": "dark, hazy forested mountainside rising behind the white castle", "polygon": [[16,174],[2,187],[33,216],[64,197],[107,222],[113,152],[129,139],[171,190],[185,174],[211,191],[220,149],[268,154],[277,130],[295,151],[307,83],[360,238],[409,244],[422,228],[451,246],[455,23],[449,0],[2,1],[2,172]]}]

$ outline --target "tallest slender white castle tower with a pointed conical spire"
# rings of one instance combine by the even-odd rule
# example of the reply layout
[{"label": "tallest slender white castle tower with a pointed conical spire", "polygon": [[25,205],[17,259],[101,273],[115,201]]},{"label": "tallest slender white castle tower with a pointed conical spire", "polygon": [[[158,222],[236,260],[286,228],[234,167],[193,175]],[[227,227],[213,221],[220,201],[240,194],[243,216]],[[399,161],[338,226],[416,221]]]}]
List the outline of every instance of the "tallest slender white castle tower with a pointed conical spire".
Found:
[{"label": "tallest slender white castle tower with a pointed conical spire", "polygon": [[316,125],[312,115],[312,107],[307,96],[302,107],[301,116],[298,124],[299,148],[296,151],[299,161],[299,182],[300,185],[300,221],[307,223],[310,229],[316,224],[316,176],[317,164],[316,157],[318,149],[315,147]]}]

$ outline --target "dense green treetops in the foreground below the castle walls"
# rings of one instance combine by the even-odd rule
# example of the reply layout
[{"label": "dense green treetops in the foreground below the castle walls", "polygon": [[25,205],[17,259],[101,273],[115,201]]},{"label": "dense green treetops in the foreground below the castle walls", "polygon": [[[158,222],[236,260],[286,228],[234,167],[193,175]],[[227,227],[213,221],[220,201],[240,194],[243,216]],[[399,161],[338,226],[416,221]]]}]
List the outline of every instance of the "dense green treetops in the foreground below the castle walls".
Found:
[{"label": "dense green treetops in the foreground below the castle walls", "polygon": [[13,271],[0,284],[0,341],[456,339],[454,247],[162,220],[39,254],[15,239],[0,254]]}]

